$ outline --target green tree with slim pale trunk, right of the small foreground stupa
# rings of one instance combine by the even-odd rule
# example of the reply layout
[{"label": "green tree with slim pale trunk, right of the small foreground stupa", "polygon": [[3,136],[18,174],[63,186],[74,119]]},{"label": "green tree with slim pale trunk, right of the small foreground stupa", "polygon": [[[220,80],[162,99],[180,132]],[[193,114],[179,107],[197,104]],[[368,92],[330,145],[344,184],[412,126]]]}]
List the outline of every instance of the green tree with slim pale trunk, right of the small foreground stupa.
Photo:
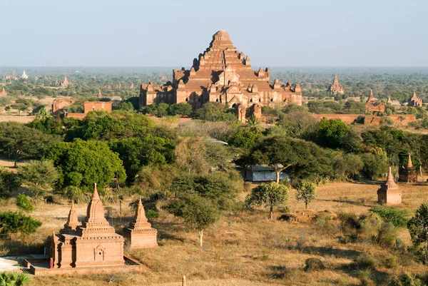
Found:
[{"label": "green tree with slim pale trunk, right of the small foreground stupa", "polygon": [[220,211],[211,200],[188,194],[172,200],[165,206],[168,213],[183,218],[185,223],[198,230],[199,245],[203,246],[203,231],[220,218]]}]

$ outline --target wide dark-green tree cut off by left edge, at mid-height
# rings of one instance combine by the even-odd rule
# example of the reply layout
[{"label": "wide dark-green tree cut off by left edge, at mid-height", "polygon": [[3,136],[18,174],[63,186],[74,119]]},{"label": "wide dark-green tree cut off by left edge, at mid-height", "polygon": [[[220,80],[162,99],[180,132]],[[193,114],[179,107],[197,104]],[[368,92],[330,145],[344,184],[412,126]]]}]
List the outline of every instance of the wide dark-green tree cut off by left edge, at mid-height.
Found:
[{"label": "wide dark-green tree cut off by left edge, at mid-height", "polygon": [[47,135],[16,122],[0,122],[0,155],[15,160],[41,158],[47,148],[61,141],[59,136]]}]

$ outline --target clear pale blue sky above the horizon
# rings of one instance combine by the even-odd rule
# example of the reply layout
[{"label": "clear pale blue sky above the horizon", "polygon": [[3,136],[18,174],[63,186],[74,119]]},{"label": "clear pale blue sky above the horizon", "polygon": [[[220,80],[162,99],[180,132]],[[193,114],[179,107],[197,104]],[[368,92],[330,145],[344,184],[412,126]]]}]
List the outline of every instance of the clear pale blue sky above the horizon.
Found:
[{"label": "clear pale blue sky above the horizon", "polygon": [[427,0],[0,0],[0,66],[428,66]]}]

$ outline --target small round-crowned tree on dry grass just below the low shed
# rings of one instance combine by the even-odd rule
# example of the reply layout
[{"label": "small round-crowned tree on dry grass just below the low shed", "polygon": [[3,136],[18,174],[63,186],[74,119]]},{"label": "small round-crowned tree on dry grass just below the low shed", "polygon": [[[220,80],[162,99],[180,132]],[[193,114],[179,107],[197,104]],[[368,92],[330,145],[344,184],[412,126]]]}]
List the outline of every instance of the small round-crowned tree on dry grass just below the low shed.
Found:
[{"label": "small round-crowned tree on dry grass just below the low shed", "polygon": [[273,219],[273,208],[284,206],[287,203],[288,189],[285,185],[277,183],[262,183],[251,190],[245,198],[245,204],[270,208],[269,218]]}]

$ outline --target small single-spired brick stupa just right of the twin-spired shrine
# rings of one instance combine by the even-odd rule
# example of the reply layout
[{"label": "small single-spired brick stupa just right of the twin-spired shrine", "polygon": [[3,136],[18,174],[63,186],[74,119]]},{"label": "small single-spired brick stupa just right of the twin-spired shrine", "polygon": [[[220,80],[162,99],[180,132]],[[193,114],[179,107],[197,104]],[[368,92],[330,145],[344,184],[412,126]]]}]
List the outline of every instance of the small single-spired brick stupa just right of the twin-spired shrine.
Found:
[{"label": "small single-spired brick stupa just right of the twin-spired shrine", "polygon": [[140,198],[133,222],[128,225],[128,228],[123,229],[123,237],[128,240],[131,249],[136,249],[158,246],[157,235],[158,230],[148,223]]}]

